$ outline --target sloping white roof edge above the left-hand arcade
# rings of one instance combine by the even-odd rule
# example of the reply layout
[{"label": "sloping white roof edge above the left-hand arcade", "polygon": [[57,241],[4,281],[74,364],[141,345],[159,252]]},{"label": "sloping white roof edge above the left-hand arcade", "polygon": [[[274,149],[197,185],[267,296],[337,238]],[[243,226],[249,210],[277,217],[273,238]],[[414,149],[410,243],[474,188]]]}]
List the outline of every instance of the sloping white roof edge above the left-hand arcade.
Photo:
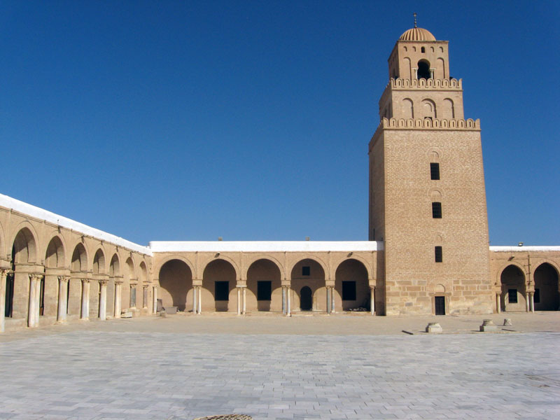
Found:
[{"label": "sloping white roof edge above the left-hand arcade", "polygon": [[147,246],[142,246],[139,244],[134,244],[134,242],[127,241],[116,235],[111,235],[111,233],[104,232],[103,230],[92,228],[83,223],[73,221],[72,219],[66,218],[64,216],[59,216],[58,214],[52,213],[40,207],[32,206],[20,200],[15,200],[15,198],[8,197],[7,195],[0,194],[0,206],[6,207],[6,209],[13,209],[27,216],[38,218],[39,220],[48,221],[55,225],[59,225],[62,228],[71,229],[75,232],[80,232],[83,235],[94,237],[102,241],[109,242],[123,248],[128,248],[132,251],[143,253],[145,255],[153,255],[150,248]]}]

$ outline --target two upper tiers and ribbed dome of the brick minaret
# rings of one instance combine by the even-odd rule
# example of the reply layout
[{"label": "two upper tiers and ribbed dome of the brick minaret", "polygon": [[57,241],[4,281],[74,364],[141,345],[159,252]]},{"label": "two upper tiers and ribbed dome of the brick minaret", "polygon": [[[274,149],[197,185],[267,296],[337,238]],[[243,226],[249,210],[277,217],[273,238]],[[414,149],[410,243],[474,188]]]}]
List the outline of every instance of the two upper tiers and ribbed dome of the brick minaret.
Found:
[{"label": "two upper tiers and ribbed dome of the brick minaret", "polygon": [[388,59],[389,83],[380,118],[462,120],[463,86],[449,77],[448,41],[416,27],[398,38]]}]

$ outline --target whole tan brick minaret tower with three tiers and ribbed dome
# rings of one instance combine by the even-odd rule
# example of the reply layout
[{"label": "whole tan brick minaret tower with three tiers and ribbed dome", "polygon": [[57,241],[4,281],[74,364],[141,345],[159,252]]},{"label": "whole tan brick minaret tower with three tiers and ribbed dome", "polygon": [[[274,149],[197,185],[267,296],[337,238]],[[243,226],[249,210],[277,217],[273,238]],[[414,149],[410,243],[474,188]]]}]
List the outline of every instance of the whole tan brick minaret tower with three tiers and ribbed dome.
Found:
[{"label": "whole tan brick minaret tower with three tiers and ribbed dome", "polygon": [[448,41],[414,14],[388,68],[369,148],[370,240],[384,244],[377,300],[387,315],[491,313],[480,124],[463,119]]}]

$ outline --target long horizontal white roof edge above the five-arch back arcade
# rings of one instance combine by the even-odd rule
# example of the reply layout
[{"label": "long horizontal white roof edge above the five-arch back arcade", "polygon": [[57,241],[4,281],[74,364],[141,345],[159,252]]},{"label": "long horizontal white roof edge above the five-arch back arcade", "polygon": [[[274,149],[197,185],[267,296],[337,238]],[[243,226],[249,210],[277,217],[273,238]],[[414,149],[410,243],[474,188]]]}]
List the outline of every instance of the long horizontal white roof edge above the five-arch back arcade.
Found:
[{"label": "long horizontal white roof edge above the five-arch back arcade", "polygon": [[151,241],[153,252],[381,251],[377,241]]}]

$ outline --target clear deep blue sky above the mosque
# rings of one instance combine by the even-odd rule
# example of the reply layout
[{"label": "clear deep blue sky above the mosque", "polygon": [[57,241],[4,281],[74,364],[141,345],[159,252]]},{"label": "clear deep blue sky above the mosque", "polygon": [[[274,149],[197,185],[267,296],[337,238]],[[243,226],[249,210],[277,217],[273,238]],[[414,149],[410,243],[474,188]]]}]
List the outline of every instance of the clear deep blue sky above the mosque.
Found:
[{"label": "clear deep blue sky above the mosque", "polygon": [[3,1],[0,193],[139,244],[365,240],[415,11],[481,120],[491,244],[560,244],[559,4]]}]

